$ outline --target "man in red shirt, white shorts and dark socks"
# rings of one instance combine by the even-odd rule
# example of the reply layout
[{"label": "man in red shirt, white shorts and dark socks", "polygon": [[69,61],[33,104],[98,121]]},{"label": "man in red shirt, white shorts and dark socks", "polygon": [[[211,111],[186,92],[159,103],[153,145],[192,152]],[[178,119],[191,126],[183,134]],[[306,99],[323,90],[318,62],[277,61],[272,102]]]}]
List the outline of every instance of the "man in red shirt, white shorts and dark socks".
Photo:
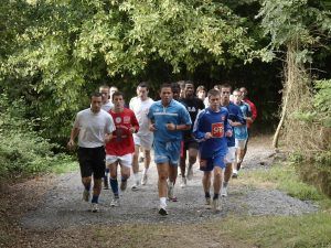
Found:
[{"label": "man in red shirt, white shorts and dark socks", "polygon": [[138,120],[134,111],[125,108],[124,95],[116,91],[113,95],[114,107],[109,110],[116,130],[113,132],[110,142],[106,144],[106,164],[110,170],[110,187],[114,198],[110,206],[119,206],[117,166],[120,165],[121,182],[120,190],[127,188],[127,180],[130,177],[132,164],[132,153],[135,152],[135,143],[132,133],[139,130]]}]

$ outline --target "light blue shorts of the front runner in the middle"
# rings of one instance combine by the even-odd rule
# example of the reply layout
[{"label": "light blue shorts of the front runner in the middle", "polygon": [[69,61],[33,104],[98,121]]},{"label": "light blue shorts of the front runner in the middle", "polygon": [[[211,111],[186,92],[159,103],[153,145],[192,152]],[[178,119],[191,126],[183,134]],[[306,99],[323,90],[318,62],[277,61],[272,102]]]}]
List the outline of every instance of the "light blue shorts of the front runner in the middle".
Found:
[{"label": "light blue shorts of the front runner in the middle", "polygon": [[181,141],[169,141],[162,142],[154,140],[154,162],[178,165],[180,152],[181,152]]}]

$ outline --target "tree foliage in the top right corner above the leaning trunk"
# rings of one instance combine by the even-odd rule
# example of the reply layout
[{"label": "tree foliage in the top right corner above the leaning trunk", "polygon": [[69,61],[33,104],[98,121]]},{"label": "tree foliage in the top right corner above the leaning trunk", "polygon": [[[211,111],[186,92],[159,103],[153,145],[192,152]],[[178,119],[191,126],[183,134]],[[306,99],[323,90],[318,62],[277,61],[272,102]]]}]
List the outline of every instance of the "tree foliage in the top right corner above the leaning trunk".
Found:
[{"label": "tree foliage in the top right corner above the leaning trunk", "polygon": [[331,34],[331,12],[321,1],[264,0],[257,15],[270,43],[260,51],[271,61],[282,46],[297,47],[297,63],[311,63],[312,47],[327,43]]}]

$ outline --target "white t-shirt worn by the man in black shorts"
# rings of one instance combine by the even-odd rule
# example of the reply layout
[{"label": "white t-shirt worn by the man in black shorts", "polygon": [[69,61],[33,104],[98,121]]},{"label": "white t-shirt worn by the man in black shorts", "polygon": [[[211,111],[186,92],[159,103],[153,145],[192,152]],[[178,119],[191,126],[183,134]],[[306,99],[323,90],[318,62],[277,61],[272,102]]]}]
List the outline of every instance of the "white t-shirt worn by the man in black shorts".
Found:
[{"label": "white t-shirt worn by the man in black shorts", "polygon": [[79,129],[78,145],[82,148],[97,148],[105,144],[105,134],[115,130],[110,114],[100,110],[94,114],[90,108],[79,111],[74,128]]}]

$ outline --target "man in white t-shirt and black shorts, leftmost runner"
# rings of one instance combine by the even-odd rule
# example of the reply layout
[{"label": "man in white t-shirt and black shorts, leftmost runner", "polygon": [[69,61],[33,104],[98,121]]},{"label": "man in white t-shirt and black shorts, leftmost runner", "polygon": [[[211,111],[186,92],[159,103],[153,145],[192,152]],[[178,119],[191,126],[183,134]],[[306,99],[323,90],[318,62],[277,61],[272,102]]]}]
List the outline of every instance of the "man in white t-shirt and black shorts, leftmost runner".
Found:
[{"label": "man in white t-shirt and black shorts, leftmost runner", "polygon": [[92,176],[94,181],[92,212],[98,212],[102,179],[105,175],[105,143],[111,139],[115,125],[111,116],[102,109],[100,93],[90,96],[90,107],[77,114],[71,132],[68,148],[75,147],[78,137],[78,161],[84,185],[83,200],[89,202]]}]

